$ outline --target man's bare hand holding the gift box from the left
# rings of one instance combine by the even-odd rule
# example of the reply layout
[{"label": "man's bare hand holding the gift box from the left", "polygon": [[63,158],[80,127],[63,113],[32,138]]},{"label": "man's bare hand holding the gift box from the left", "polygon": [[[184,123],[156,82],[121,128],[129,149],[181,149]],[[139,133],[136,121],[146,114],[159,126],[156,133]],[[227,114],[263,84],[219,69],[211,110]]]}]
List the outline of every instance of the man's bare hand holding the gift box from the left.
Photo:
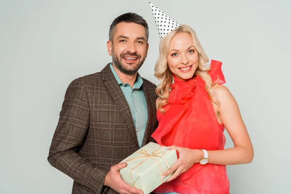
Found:
[{"label": "man's bare hand holding the gift box from the left", "polygon": [[131,187],[120,177],[119,169],[125,168],[126,166],[126,162],[111,166],[109,173],[106,175],[104,185],[111,187],[120,194],[144,194],[143,191]]}]

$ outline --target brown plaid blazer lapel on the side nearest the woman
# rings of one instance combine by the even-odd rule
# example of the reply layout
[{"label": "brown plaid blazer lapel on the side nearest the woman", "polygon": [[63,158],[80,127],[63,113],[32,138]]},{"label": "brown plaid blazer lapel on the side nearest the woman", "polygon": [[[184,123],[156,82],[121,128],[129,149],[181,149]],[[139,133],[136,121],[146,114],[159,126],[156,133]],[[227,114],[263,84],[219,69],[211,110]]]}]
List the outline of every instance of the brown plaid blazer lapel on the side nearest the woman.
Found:
[{"label": "brown plaid blazer lapel on the side nearest the woman", "polygon": [[147,91],[147,85],[146,85],[145,81],[143,83],[143,90],[144,90],[145,97],[146,97],[147,122],[146,122],[146,131],[145,131],[145,135],[144,135],[142,146],[146,146],[146,142],[147,142],[147,140],[149,138],[150,131],[152,129],[152,121],[153,121],[153,116],[154,116],[153,104],[155,104],[156,102],[153,102],[152,99],[149,97],[148,91]]}]

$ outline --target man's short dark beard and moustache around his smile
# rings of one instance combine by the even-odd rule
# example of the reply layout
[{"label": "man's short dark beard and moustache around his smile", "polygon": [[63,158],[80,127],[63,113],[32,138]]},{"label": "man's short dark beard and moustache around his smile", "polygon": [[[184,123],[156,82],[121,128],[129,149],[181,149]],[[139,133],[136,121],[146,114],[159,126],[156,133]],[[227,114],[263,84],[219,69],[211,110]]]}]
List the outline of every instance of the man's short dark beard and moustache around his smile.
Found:
[{"label": "man's short dark beard and moustache around his smile", "polygon": [[120,55],[120,59],[118,59],[117,55],[115,55],[114,50],[112,49],[112,61],[113,61],[113,64],[115,65],[115,67],[119,71],[121,71],[122,73],[124,73],[126,75],[133,75],[133,74],[135,74],[139,70],[139,68],[144,64],[144,62],[146,60],[146,55],[145,55],[145,57],[143,58],[143,60],[140,61],[133,69],[128,69],[121,62],[123,56],[133,56],[133,57],[138,57],[139,59],[141,59],[141,56],[138,55],[137,53],[126,52],[126,53],[121,54]]}]

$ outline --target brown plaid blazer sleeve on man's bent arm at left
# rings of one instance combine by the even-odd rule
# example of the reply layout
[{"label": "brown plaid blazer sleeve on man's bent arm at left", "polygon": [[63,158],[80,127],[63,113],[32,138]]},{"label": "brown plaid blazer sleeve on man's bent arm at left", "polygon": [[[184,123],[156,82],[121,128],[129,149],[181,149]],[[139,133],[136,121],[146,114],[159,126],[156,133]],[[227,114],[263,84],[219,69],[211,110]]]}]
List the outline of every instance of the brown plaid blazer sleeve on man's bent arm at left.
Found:
[{"label": "brown plaid blazer sleeve on man's bent arm at left", "polygon": [[89,127],[89,102],[82,78],[70,83],[49,148],[49,163],[75,181],[100,194],[109,172],[81,157],[81,148]]}]

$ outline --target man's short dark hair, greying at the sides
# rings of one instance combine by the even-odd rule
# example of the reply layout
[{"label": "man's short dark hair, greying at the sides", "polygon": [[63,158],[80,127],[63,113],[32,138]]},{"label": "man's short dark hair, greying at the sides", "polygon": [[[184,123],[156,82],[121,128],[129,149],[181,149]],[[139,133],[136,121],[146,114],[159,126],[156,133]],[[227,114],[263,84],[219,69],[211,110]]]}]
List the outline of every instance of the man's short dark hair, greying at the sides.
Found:
[{"label": "man's short dark hair, greying at the sides", "polygon": [[140,16],[137,15],[135,13],[126,13],[126,14],[122,14],[118,17],[116,17],[112,24],[110,25],[109,28],[109,40],[113,43],[113,34],[115,33],[115,27],[117,24],[121,23],[121,22],[126,22],[126,23],[136,23],[139,25],[142,25],[143,27],[145,27],[146,29],[146,42],[148,41],[148,26],[146,23],[146,20]]}]

